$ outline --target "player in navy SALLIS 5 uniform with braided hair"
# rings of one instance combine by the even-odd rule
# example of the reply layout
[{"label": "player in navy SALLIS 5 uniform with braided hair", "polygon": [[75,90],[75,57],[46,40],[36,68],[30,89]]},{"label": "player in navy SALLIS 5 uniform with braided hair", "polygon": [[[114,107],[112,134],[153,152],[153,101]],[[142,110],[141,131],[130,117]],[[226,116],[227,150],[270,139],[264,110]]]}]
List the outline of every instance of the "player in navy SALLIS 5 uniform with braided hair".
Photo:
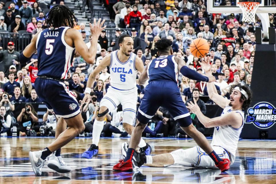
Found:
[{"label": "player in navy SALLIS 5 uniform with braided hair", "polygon": [[74,19],[74,14],[67,7],[52,7],[45,20],[47,28],[35,34],[19,58],[20,62],[25,63],[37,51],[38,78],[34,83],[35,90],[47,109],[60,117],[55,141],[41,151],[29,152],[31,165],[37,176],[41,175],[47,156],[55,151],[55,155],[52,154],[49,158],[48,167],[60,173],[69,172],[71,169],[63,162],[60,148],[85,129],[78,102],[64,80],[67,79],[75,49],[87,63],[95,63],[97,38],[105,26],[102,27],[104,21],[99,20],[96,23],[94,19],[94,24],[90,24],[93,40],[91,47],[87,48],[80,32],[72,29]]}]

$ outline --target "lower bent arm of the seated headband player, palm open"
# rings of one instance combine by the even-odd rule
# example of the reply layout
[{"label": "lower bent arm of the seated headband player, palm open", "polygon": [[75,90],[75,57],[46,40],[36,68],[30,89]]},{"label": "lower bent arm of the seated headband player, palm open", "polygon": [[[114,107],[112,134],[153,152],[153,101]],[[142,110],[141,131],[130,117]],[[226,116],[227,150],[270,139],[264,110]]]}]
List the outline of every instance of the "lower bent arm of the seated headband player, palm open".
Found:
[{"label": "lower bent arm of the seated headband player, palm open", "polygon": [[239,113],[230,112],[225,114],[224,116],[219,116],[211,119],[206,117],[204,114],[202,114],[199,106],[196,103],[196,99],[193,98],[193,102],[190,101],[187,104],[188,104],[187,108],[190,109],[194,114],[196,114],[196,117],[198,117],[198,120],[206,128],[220,127],[220,126],[226,126],[226,125],[231,125],[233,128],[241,127],[243,119],[241,117],[241,114]]}]

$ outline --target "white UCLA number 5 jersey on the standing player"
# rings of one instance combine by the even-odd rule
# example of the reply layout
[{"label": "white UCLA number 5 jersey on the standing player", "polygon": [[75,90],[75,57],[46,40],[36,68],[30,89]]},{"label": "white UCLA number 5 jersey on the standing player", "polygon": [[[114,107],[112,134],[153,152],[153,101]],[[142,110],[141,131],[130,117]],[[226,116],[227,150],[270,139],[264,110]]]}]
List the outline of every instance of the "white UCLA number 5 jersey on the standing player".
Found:
[{"label": "white UCLA number 5 jersey on the standing player", "polygon": [[135,69],[136,54],[131,53],[127,62],[120,62],[118,51],[111,53],[110,84],[118,90],[129,90],[136,87],[137,70]]}]

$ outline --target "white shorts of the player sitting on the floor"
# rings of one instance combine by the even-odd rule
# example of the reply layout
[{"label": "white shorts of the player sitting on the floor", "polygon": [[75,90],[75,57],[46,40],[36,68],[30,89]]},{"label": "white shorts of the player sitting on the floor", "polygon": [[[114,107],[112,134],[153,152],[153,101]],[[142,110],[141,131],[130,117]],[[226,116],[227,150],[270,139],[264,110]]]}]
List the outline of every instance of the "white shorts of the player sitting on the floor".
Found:
[{"label": "white shorts of the player sitting on the floor", "polygon": [[[216,154],[220,158],[230,159],[229,153],[220,146],[212,146]],[[212,168],[218,169],[214,161],[206,154],[199,146],[192,147],[186,150],[179,149],[170,153],[175,160],[175,164],[187,167]],[[231,165],[233,163],[231,162]]]}]

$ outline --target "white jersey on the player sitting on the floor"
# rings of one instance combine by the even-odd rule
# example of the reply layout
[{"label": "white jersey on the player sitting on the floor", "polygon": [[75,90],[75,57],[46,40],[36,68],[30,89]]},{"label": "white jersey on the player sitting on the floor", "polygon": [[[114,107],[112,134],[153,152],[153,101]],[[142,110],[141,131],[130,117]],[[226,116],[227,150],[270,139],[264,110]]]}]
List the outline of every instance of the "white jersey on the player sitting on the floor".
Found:
[{"label": "white jersey on the player sitting on the floor", "polygon": [[231,163],[234,163],[236,157],[236,150],[239,141],[239,136],[241,135],[241,129],[244,126],[244,111],[242,110],[231,110],[231,106],[226,106],[221,114],[224,116],[227,113],[236,112],[242,117],[242,125],[240,128],[235,129],[231,125],[215,127],[213,140],[211,146],[221,146],[227,152],[230,153]]}]

